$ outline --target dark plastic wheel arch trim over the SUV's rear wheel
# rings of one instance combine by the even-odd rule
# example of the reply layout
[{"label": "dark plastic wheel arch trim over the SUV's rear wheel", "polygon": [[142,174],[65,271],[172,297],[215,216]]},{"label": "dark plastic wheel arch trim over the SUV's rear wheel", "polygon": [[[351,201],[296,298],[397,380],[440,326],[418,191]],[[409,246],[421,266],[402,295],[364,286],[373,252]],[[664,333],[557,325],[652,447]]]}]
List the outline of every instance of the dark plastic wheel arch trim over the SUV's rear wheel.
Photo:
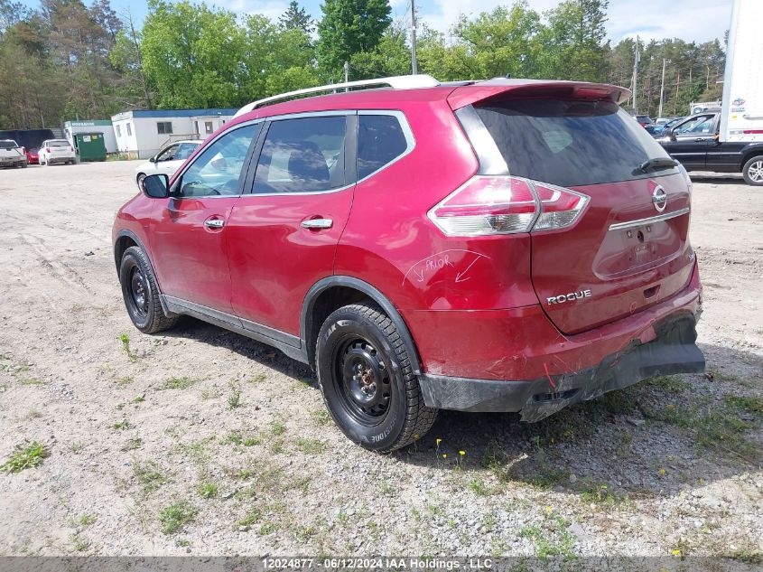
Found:
[{"label": "dark plastic wheel arch trim over the SUV's rear wheel", "polygon": [[312,285],[304,297],[300,315],[300,331],[302,332],[302,346],[308,363],[313,367],[315,365],[315,342],[326,317],[342,305],[352,304],[362,299],[370,299],[377,303],[389,316],[389,319],[395,324],[397,332],[403,338],[405,352],[408,353],[411,360],[414,374],[421,375],[421,360],[414,344],[414,338],[395,305],[390,302],[386,295],[383,295],[368,282],[346,276],[323,278]]}]

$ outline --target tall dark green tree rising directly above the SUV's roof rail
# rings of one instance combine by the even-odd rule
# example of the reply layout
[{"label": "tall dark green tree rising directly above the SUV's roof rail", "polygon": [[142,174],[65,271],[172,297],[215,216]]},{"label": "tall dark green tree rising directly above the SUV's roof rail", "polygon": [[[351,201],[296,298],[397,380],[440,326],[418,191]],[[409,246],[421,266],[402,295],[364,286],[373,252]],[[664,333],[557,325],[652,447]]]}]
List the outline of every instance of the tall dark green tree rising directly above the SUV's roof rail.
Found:
[{"label": "tall dark green tree rising directly above the SUV's roof rail", "polygon": [[318,23],[316,52],[321,69],[332,79],[358,52],[374,52],[392,22],[389,0],[325,0]]}]

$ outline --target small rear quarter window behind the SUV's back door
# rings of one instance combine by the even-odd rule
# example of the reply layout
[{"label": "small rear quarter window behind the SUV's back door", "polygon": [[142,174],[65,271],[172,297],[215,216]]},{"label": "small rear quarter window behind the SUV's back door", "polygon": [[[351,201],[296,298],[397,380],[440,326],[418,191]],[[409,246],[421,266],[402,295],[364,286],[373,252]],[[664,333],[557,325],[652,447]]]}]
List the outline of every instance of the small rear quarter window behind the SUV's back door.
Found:
[{"label": "small rear quarter window behind the SUV's back door", "polygon": [[408,148],[397,117],[358,117],[358,179],[365,179],[403,155]]}]

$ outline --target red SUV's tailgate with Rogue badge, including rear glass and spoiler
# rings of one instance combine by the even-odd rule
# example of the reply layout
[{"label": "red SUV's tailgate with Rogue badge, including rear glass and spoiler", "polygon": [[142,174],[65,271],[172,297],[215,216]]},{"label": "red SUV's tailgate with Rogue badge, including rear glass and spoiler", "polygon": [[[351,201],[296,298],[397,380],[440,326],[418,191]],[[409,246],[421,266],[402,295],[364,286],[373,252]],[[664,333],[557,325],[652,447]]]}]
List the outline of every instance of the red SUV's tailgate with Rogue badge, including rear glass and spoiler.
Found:
[{"label": "red SUV's tailgate with Rogue badge, including rear glass and spoiler", "polygon": [[530,233],[535,293],[563,333],[634,314],[691,279],[690,182],[619,108],[627,94],[599,84],[509,80],[449,98],[453,108],[472,108],[484,126],[479,136],[467,128],[480,170],[589,197],[572,224]]}]

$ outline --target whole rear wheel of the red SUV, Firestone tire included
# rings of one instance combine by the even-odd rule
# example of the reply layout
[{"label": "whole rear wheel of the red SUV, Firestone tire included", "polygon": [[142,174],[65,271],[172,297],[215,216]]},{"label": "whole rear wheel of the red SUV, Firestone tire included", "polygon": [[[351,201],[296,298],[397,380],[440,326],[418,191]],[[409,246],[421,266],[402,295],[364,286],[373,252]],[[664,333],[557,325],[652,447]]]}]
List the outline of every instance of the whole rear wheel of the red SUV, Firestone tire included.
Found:
[{"label": "whole rear wheel of the red SUV, Firestone tire included", "polygon": [[400,333],[377,305],[346,305],[330,314],[316,345],[323,400],[352,441],[389,453],[432,427],[437,409],[424,405]]}]

